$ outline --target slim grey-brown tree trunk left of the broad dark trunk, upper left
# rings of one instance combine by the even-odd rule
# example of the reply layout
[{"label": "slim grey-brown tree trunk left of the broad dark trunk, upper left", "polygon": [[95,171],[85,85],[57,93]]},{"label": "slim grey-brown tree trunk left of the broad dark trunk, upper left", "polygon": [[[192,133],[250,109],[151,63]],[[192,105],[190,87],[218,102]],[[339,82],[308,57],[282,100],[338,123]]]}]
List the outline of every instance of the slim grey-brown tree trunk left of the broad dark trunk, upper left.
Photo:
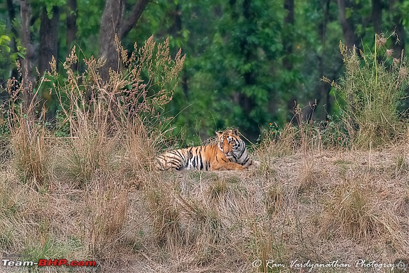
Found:
[{"label": "slim grey-brown tree trunk left of the broad dark trunk, upper left", "polygon": [[27,0],[20,1],[20,13],[21,13],[21,45],[26,48],[25,58],[20,58],[21,73],[23,77],[23,87],[24,91],[22,94],[22,100],[24,100],[24,106],[27,107],[32,99],[32,84],[34,82],[33,77],[33,57],[34,50],[31,44],[31,33],[30,33],[30,16],[31,9]]}]

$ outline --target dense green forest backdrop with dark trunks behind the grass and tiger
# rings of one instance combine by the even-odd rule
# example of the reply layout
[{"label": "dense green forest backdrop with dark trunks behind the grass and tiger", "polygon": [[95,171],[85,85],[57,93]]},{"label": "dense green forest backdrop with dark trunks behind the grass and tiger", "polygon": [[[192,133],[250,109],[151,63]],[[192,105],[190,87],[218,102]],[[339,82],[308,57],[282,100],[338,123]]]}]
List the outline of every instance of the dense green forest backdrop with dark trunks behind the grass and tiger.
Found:
[{"label": "dense green forest backdrop with dark trunks behind the grass and tiger", "polygon": [[[343,74],[339,40],[368,52],[375,33],[393,34],[385,46],[399,59],[409,44],[407,14],[408,0],[6,0],[0,4],[0,82],[5,88],[8,78],[18,78],[17,60],[28,69],[23,76],[38,82],[51,70],[52,56],[65,80],[62,64],[74,46],[79,59],[106,58],[100,74],[108,80],[108,69],[118,67],[115,33],[129,51],[151,35],[158,42],[169,37],[170,55],[181,48],[186,56],[163,110],[171,125],[180,125],[188,141],[226,127],[255,141],[269,123],[290,121],[298,103],[304,118],[315,100],[313,119],[336,115],[342,101],[320,78]],[[73,70],[80,74],[85,66],[79,62]],[[51,123],[59,105],[50,92],[53,80],[34,85]],[[2,92],[2,100],[8,96]]]}]

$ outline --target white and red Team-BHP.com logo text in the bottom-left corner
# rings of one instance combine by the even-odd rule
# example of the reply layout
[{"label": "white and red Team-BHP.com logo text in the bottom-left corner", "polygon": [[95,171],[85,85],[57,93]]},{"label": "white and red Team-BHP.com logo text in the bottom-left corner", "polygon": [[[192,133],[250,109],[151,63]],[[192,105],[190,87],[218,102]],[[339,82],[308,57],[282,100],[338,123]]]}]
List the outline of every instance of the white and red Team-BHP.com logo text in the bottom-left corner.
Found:
[{"label": "white and red Team-BHP.com logo text in the bottom-left corner", "polygon": [[34,261],[11,261],[10,259],[2,259],[2,266],[97,266],[96,261],[68,261],[66,259],[39,259]]}]

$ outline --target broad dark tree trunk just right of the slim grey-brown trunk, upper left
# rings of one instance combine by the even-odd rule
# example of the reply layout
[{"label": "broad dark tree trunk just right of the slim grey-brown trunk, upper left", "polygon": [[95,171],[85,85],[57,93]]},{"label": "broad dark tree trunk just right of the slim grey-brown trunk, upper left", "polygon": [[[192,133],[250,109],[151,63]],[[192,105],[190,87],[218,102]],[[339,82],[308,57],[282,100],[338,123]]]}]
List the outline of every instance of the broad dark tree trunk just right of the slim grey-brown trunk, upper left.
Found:
[{"label": "broad dark tree trunk just right of the slim grey-brown trunk, upper left", "polygon": [[[40,73],[50,71],[52,57],[58,59],[58,22],[60,11],[54,6],[52,9],[53,17],[50,19],[47,10],[44,7],[41,14],[40,24],[40,51],[38,60],[38,70]],[[58,62],[57,62],[58,64]]]}]

